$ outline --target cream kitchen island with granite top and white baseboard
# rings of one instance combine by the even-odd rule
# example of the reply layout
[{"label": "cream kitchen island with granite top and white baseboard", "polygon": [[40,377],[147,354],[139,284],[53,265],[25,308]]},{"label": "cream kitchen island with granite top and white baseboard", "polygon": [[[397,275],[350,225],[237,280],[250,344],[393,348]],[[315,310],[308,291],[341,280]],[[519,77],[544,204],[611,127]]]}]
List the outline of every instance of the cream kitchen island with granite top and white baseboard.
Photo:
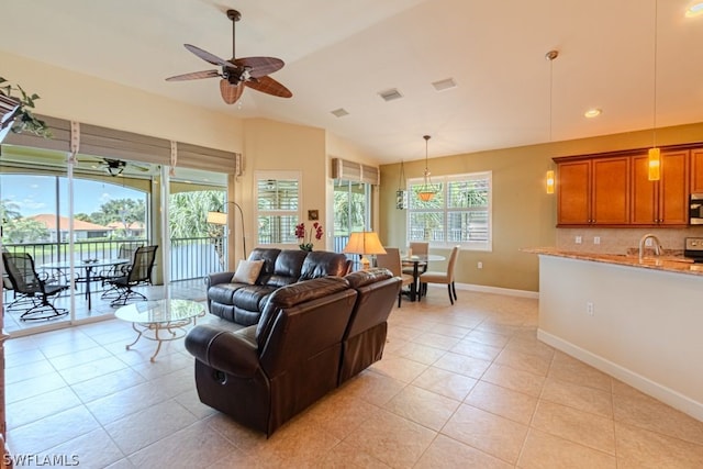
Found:
[{"label": "cream kitchen island with granite top and white baseboard", "polygon": [[703,421],[703,266],[529,249],[540,340]]}]

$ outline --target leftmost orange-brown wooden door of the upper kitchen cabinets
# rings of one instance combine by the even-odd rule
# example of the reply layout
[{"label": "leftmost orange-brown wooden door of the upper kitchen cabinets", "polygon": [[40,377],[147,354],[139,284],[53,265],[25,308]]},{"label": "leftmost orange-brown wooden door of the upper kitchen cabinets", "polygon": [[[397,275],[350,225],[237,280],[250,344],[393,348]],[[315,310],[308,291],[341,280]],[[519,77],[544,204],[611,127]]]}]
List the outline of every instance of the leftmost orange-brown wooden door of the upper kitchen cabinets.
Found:
[{"label": "leftmost orange-brown wooden door of the upper kitchen cabinets", "polygon": [[590,172],[590,160],[557,165],[557,223],[559,225],[585,225],[591,222]]}]

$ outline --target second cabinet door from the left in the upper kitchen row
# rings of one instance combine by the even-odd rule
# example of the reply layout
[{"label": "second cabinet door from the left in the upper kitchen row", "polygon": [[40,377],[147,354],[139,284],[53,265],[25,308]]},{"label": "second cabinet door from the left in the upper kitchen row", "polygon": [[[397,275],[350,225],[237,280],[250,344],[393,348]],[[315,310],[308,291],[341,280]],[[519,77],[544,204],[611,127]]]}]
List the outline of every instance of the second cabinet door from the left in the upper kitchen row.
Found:
[{"label": "second cabinet door from the left in the upper kitchen row", "polygon": [[591,161],[591,223],[629,223],[628,156],[595,158]]}]

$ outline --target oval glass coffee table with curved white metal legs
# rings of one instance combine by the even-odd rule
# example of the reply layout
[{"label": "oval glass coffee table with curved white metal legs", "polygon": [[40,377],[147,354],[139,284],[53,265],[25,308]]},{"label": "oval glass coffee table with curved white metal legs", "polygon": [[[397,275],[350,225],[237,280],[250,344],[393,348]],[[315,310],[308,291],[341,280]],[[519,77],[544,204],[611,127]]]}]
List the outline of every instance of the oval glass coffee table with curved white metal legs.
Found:
[{"label": "oval glass coffee table with curved white metal legs", "polygon": [[205,306],[190,300],[155,300],[127,304],[114,312],[116,319],[132,323],[138,334],[125,348],[129,350],[142,337],[158,343],[150,360],[154,362],[161,343],[186,336],[186,327],[205,315]]}]

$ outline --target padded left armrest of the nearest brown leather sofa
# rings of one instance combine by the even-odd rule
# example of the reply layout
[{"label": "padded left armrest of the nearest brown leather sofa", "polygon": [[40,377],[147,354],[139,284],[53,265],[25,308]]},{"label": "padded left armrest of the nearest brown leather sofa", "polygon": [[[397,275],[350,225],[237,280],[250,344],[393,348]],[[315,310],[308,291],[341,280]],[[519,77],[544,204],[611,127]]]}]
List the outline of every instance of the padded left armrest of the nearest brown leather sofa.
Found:
[{"label": "padded left armrest of the nearest brown leather sofa", "polygon": [[252,336],[246,328],[230,332],[203,324],[190,330],[186,349],[212,368],[248,378],[259,369],[258,347]]}]

